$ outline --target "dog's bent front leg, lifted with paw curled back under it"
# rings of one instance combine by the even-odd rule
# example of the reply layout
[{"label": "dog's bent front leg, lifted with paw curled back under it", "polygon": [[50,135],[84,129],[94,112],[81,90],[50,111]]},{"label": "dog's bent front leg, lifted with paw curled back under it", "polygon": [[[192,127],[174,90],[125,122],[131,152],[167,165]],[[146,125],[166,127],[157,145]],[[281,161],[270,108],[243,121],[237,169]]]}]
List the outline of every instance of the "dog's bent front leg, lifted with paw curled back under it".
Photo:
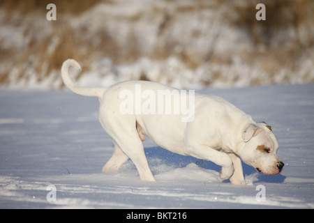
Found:
[{"label": "dog's bent front leg, lifted with paw curled back under it", "polygon": [[195,146],[193,146],[193,144],[187,144],[184,152],[186,155],[191,155],[202,160],[209,160],[221,166],[220,178],[223,180],[230,178],[233,174],[233,163],[226,153],[216,151],[214,148],[204,144]]}]

